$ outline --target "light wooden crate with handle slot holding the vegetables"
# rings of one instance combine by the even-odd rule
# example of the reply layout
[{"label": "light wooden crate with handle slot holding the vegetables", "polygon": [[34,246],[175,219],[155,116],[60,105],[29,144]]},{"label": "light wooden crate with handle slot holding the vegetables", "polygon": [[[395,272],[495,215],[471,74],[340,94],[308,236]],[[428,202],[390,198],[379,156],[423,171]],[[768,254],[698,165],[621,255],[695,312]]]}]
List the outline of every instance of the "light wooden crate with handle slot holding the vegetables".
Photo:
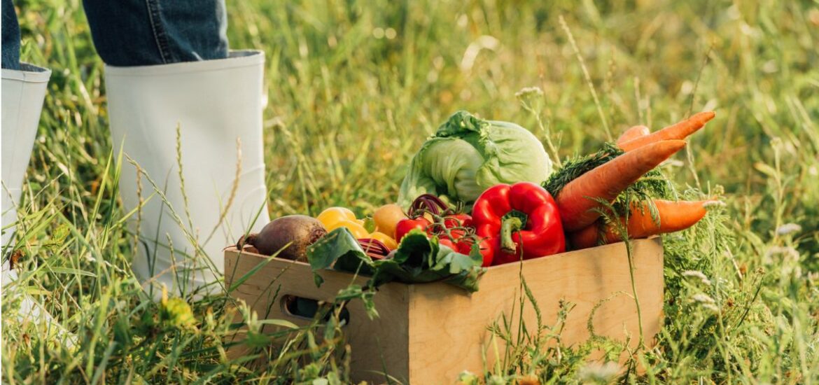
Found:
[{"label": "light wooden crate with handle slot holding the vegetables", "polygon": [[[634,280],[640,298],[642,326],[647,343],[662,325],[663,247],[659,238],[634,241]],[[225,251],[226,280],[242,277],[269,257]],[[523,270],[521,270],[523,268]],[[454,383],[464,369],[481,373],[491,368],[495,347],[486,327],[502,314],[518,315],[519,275],[523,272],[541,309],[544,324],[554,324],[559,300],[576,304],[563,330],[563,342],[571,345],[589,337],[587,321],[595,312],[595,333],[636,346],[639,325],[636,304],[631,296],[631,277],[624,243],[492,266],[480,281],[480,290],[469,294],[446,283],[387,283],[374,297],[380,314],[370,320],[360,301],[347,306],[350,322],[346,338],[352,349],[351,371],[355,381],[384,383],[383,369],[404,383]],[[272,259],[242,283],[232,294],[247,301],[262,318],[287,319],[306,324],[307,319],[291,315],[283,297],[296,296],[319,301],[331,300],[350,283],[364,284],[366,278],[326,270],[321,288],[316,288],[310,265],[292,260]],[[278,297],[274,298],[274,293]],[[606,299],[608,301],[604,301]],[[276,303],[271,303],[276,301]],[[536,324],[532,306],[524,313],[527,325]],[[482,357],[486,357],[486,360]]]}]

